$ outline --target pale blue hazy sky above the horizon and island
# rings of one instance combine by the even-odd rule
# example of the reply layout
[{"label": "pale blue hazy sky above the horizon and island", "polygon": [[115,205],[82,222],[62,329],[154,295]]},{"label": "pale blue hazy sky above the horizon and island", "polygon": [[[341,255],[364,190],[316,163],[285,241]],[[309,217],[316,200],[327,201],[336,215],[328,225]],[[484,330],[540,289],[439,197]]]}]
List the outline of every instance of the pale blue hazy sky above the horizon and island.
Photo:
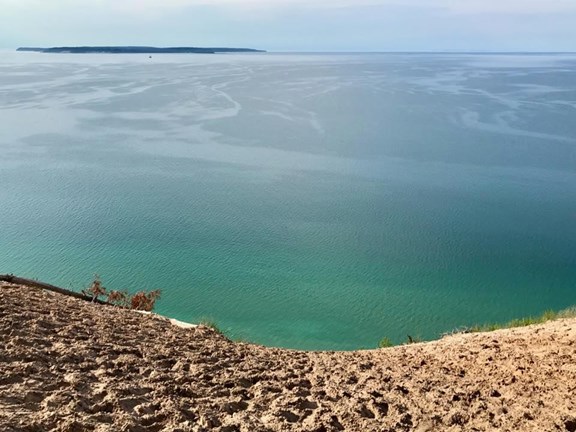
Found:
[{"label": "pale blue hazy sky above the horizon and island", "polygon": [[0,48],[576,51],[576,0],[0,0]]}]

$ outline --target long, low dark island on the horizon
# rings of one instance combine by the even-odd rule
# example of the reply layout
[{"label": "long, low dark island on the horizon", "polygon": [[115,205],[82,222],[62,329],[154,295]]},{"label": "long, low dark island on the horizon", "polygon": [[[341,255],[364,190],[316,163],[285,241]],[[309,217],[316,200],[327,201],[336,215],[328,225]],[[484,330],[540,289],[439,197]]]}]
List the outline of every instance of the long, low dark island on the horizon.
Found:
[{"label": "long, low dark island on the horizon", "polygon": [[147,46],[81,46],[81,47],[53,47],[30,48],[21,47],[16,51],[33,51],[43,53],[69,53],[69,54],[216,54],[216,53],[250,53],[266,52],[252,48],[198,48],[198,47],[169,47],[157,48]]}]

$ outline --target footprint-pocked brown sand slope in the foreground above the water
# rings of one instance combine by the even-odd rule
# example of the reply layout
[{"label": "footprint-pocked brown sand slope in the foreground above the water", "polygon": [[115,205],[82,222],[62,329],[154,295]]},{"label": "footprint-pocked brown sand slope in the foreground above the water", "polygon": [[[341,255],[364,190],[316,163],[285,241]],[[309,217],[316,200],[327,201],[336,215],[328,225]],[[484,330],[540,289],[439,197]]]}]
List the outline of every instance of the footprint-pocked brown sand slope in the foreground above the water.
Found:
[{"label": "footprint-pocked brown sand slope in the foreground above the water", "polygon": [[0,284],[0,431],[576,431],[576,320],[359,352]]}]

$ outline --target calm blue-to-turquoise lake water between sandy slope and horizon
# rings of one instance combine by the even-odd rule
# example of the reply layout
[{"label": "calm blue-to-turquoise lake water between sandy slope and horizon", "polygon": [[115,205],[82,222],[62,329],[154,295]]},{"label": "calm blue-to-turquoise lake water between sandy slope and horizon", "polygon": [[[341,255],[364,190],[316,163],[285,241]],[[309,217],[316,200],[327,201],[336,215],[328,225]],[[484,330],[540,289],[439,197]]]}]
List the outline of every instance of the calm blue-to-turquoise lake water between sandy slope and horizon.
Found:
[{"label": "calm blue-to-turquoise lake water between sandy slope and horizon", "polygon": [[576,304],[576,56],[0,60],[0,273],[304,349]]}]

